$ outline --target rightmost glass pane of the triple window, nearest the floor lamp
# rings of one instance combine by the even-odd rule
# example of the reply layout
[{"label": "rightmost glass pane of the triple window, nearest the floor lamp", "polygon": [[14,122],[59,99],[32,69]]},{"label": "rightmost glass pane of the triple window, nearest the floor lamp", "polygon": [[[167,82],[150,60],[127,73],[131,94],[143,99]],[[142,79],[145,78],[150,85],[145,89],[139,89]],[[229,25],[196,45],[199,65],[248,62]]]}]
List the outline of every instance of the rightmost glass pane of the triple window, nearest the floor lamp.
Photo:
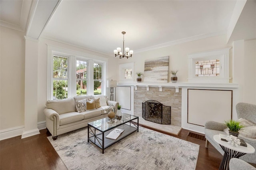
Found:
[{"label": "rightmost glass pane of the triple window, nearest the floor lamp", "polygon": [[100,95],[102,85],[102,64],[93,63],[94,95]]}]

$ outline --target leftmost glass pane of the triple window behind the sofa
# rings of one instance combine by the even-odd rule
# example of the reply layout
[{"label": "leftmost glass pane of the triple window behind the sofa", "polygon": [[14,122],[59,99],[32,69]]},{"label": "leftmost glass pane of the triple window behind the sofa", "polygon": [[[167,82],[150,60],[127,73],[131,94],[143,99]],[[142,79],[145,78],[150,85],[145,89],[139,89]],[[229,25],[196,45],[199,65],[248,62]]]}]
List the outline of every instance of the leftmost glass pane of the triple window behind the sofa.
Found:
[{"label": "leftmost glass pane of the triple window behind the sofa", "polygon": [[53,99],[68,97],[68,58],[53,57]]}]

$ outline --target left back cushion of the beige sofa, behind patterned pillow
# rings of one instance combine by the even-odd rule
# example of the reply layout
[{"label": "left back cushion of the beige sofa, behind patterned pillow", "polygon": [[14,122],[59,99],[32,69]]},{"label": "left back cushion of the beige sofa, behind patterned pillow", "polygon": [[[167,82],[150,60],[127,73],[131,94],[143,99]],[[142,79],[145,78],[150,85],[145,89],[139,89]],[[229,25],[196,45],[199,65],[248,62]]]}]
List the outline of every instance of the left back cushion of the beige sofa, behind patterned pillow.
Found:
[{"label": "left back cushion of the beige sofa, behind patterned pillow", "polygon": [[76,111],[74,97],[46,101],[46,108],[56,111],[59,115]]}]

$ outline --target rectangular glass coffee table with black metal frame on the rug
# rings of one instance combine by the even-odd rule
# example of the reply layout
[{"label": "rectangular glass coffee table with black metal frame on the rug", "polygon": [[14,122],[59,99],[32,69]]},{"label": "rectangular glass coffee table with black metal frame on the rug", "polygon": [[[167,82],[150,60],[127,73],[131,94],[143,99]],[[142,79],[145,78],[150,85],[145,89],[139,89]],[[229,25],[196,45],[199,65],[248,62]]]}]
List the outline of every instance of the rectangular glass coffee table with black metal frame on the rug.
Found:
[{"label": "rectangular glass coffee table with black metal frame on the rug", "polygon": [[[134,123],[136,119],[137,124],[135,124],[136,121]],[[106,138],[115,128],[124,129],[124,132],[116,140]],[[111,146],[135,131],[139,132],[139,117],[122,113],[122,119],[120,121],[115,119],[114,123],[108,123],[108,118],[88,123],[88,142],[91,141],[96,144],[102,149],[102,154],[104,154],[104,149],[108,146]]]}]

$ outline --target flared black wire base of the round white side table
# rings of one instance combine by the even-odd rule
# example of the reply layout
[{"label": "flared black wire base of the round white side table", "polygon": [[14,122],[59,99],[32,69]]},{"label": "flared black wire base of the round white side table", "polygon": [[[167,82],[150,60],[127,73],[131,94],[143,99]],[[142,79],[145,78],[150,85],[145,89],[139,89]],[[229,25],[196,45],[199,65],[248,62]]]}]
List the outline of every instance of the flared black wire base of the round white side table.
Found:
[{"label": "flared black wire base of the round white side table", "polygon": [[224,155],[219,167],[219,170],[229,170],[229,161],[231,158],[239,158],[240,156],[245,155],[246,153],[238,152],[220,144],[220,147],[224,150]]}]

